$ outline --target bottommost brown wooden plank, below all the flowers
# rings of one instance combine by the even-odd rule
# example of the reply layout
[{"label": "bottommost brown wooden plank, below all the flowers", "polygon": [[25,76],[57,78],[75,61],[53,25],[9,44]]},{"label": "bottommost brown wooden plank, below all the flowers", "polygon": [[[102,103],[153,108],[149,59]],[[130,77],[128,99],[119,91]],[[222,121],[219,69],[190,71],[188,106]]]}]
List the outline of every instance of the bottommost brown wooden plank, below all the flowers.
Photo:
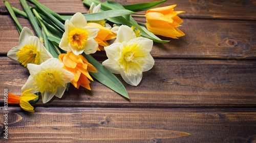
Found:
[{"label": "bottommost brown wooden plank, below all the flowers", "polygon": [[[19,107],[8,110],[9,142],[256,141],[255,109],[36,107],[36,113]],[[2,111],[0,115],[4,137],[5,117]]]}]

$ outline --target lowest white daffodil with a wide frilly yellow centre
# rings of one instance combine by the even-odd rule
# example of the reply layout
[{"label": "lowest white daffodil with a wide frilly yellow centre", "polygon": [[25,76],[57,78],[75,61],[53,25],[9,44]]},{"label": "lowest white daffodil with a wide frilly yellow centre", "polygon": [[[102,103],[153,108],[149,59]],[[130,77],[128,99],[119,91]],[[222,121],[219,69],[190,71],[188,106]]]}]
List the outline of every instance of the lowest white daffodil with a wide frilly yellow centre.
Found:
[{"label": "lowest white daffodil with a wide frilly yellow centre", "polygon": [[61,98],[67,83],[74,78],[71,72],[62,68],[63,66],[64,64],[56,58],[51,58],[40,65],[28,64],[30,76],[22,91],[34,89],[32,93],[40,92],[43,103],[50,101],[54,95]]}]

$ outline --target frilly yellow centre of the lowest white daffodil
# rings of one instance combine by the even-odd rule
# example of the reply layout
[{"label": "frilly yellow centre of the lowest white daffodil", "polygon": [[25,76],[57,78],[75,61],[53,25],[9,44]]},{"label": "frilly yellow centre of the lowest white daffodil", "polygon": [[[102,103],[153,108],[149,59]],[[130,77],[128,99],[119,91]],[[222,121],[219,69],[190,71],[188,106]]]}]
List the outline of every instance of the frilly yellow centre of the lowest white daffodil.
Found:
[{"label": "frilly yellow centre of the lowest white daffodil", "polygon": [[35,90],[39,92],[56,92],[59,86],[65,87],[63,75],[56,70],[41,71],[34,75]]}]

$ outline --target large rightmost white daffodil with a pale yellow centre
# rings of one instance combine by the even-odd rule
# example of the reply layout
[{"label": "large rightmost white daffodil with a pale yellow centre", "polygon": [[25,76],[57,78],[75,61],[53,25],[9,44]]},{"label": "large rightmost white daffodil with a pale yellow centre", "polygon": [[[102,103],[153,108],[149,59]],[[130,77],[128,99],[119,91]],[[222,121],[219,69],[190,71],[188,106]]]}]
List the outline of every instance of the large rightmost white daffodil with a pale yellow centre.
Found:
[{"label": "large rightmost white daffodil with a pale yellow centre", "polygon": [[131,27],[119,27],[116,43],[104,47],[108,60],[102,65],[112,73],[121,74],[125,82],[137,86],[142,79],[142,72],[150,70],[155,61],[150,54],[153,41],[136,37]]}]

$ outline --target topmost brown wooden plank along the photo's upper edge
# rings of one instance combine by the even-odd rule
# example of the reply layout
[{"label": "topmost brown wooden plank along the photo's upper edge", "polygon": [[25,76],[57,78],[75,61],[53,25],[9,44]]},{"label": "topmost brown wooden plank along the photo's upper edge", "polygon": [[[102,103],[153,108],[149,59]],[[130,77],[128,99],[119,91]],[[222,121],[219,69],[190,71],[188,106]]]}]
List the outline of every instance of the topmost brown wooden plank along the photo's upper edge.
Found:
[{"label": "topmost brown wooden plank along the photo's upper edge", "polygon": [[[121,5],[147,3],[152,1],[119,1],[114,0]],[[11,6],[23,10],[19,1],[9,0]],[[38,2],[44,4],[48,8],[60,14],[74,14],[76,12],[87,13],[88,7],[84,6],[82,0],[58,0],[58,1],[43,1],[38,0]],[[104,2],[104,1],[100,1]],[[30,4],[30,3],[29,3]],[[241,19],[241,20],[256,20],[256,3],[252,0],[249,1],[212,1],[212,0],[190,0],[190,1],[178,1],[178,0],[168,0],[161,7],[168,5],[177,5],[176,11],[185,11],[186,13],[181,14],[182,18],[210,18],[210,19]],[[30,4],[30,6],[33,6]],[[160,7],[158,6],[158,7]],[[0,3],[1,14],[7,14],[8,11],[5,8],[3,2]],[[144,14],[145,11],[140,12]]]}]

